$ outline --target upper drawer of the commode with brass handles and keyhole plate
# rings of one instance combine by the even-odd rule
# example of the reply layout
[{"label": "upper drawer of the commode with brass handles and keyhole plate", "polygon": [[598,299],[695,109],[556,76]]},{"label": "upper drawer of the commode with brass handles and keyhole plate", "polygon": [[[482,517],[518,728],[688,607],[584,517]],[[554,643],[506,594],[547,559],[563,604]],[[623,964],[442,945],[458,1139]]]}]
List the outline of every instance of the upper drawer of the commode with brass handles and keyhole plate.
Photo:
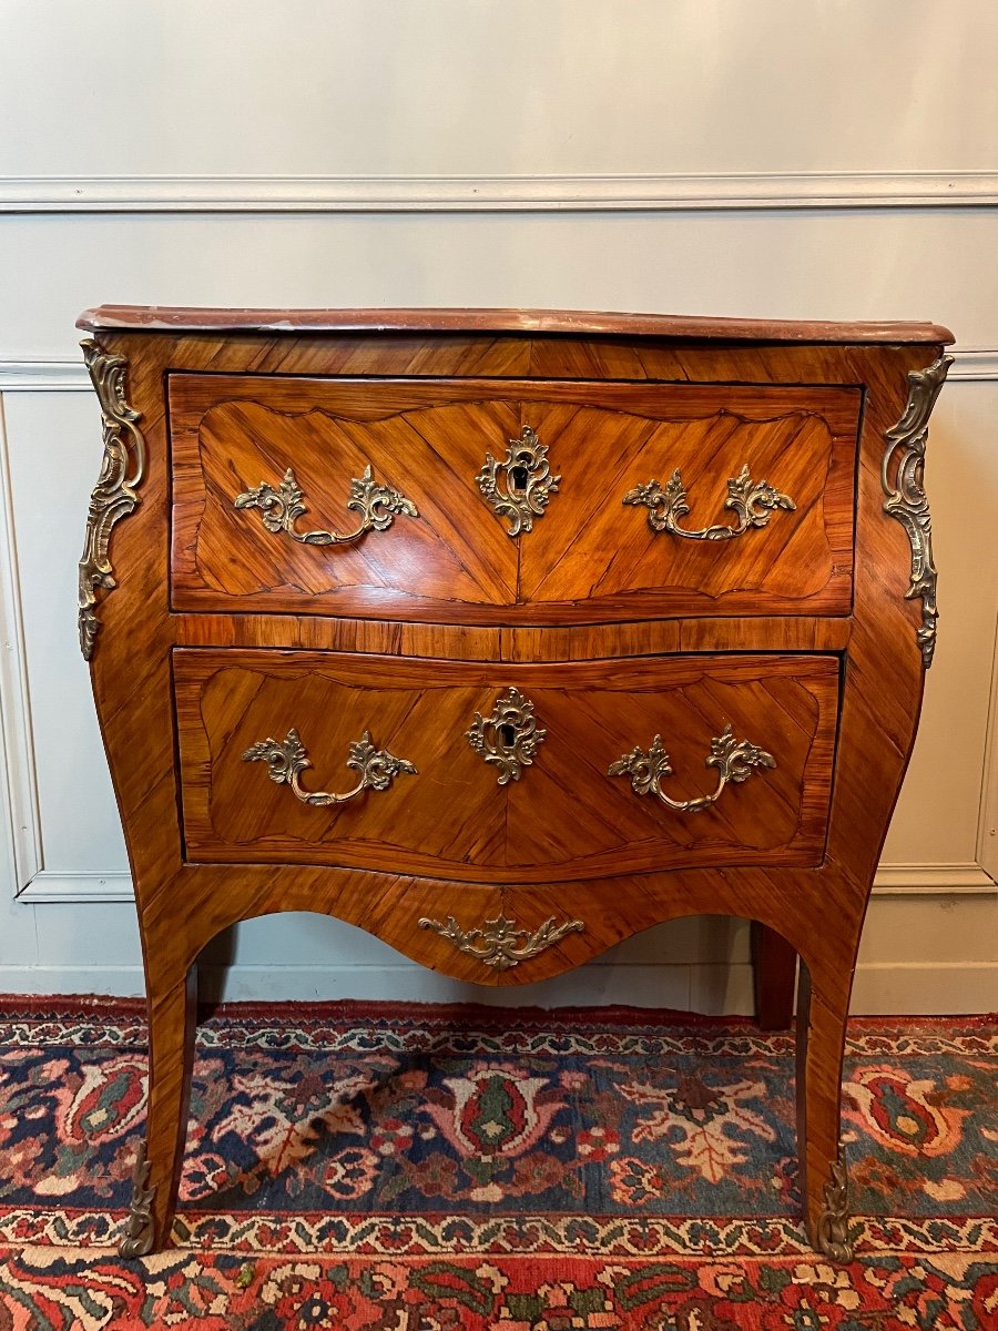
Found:
[{"label": "upper drawer of the commode with brass handles and keyhole plate", "polygon": [[443,623],[845,615],[860,402],[174,374],[173,602]]}]

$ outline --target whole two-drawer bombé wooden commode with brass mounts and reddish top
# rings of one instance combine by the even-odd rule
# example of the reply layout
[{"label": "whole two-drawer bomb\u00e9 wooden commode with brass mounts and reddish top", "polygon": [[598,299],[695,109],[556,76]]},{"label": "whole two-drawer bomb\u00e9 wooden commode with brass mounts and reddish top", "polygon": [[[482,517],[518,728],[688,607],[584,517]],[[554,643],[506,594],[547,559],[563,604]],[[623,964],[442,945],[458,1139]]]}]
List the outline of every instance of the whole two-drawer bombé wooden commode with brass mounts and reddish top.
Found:
[{"label": "whole two-drawer bomb\u00e9 wooden commode with brass mounts and reddish top", "polygon": [[[80,642],[136,885],[169,1238],[194,964],[315,910],[488,985],[732,914],[801,957],[813,1244],[935,642],[925,323],[520,310],[80,319],[104,465]],[[121,520],[120,519],[128,519]]]}]

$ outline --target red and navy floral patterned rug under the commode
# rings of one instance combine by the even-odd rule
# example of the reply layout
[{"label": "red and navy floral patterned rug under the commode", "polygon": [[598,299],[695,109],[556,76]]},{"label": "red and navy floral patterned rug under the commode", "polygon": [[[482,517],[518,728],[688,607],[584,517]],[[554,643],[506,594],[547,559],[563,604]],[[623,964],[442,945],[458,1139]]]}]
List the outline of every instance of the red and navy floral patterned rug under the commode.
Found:
[{"label": "red and navy floral patterned rug under the commode", "polygon": [[637,1009],[233,1006],[168,1252],[110,1247],[138,1004],[0,1000],[0,1331],[994,1331],[998,1030],[857,1021],[856,1260],[798,1222],[793,1041]]}]

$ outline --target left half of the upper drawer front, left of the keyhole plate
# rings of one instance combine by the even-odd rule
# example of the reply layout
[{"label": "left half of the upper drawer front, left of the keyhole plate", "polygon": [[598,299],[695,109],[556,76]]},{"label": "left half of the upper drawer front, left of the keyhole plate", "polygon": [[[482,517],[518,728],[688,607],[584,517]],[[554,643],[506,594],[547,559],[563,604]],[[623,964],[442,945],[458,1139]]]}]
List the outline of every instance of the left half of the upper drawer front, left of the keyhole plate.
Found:
[{"label": "left half of the upper drawer front, left of the keyhole plate", "polygon": [[[172,375],[169,403],[177,608],[432,620],[515,600],[516,546],[475,483],[484,450],[519,431],[515,402],[406,383]],[[375,507],[383,526],[355,539],[291,536],[362,527],[365,512],[347,504],[369,469],[407,507]]]}]

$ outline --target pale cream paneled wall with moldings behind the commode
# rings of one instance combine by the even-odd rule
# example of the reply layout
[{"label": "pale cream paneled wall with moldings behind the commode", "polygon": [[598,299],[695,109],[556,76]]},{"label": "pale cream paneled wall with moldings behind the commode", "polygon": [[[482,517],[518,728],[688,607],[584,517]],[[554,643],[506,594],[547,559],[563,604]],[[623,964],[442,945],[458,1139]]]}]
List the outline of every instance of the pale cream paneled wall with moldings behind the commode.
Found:
[{"label": "pale cream paneled wall with moldings behind the commode", "polygon": [[[76,643],[77,313],[532,305],[954,329],[939,646],[854,1009],[998,1006],[997,65],[990,0],[7,0],[0,990],[141,992]],[[747,957],[744,925],[680,921],[514,996],[745,1010]],[[483,996],[313,917],[206,969],[232,997]]]}]

